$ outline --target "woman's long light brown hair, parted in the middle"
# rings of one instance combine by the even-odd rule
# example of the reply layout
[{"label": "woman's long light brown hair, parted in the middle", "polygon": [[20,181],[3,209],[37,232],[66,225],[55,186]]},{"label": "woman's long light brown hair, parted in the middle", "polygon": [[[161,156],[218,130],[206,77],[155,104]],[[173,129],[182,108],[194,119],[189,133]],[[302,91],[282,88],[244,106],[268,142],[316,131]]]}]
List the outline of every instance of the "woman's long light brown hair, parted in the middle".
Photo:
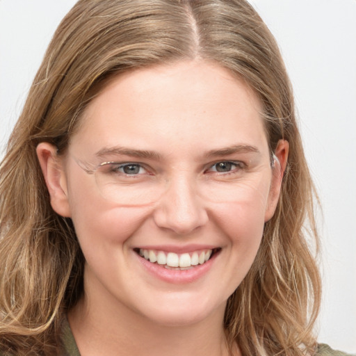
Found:
[{"label": "woman's long light brown hair, parted in the middle", "polygon": [[65,152],[114,75],[189,58],[243,78],[264,105],[270,152],[281,138],[290,147],[275,215],[227,302],[229,346],[237,342],[243,355],[313,352],[321,293],[310,249],[318,245],[314,187],[280,51],[245,0],[80,0],[63,19],[0,167],[2,348],[56,355],[60,318],[83,292],[83,254],[71,220],[51,209],[35,147],[45,141]]}]

